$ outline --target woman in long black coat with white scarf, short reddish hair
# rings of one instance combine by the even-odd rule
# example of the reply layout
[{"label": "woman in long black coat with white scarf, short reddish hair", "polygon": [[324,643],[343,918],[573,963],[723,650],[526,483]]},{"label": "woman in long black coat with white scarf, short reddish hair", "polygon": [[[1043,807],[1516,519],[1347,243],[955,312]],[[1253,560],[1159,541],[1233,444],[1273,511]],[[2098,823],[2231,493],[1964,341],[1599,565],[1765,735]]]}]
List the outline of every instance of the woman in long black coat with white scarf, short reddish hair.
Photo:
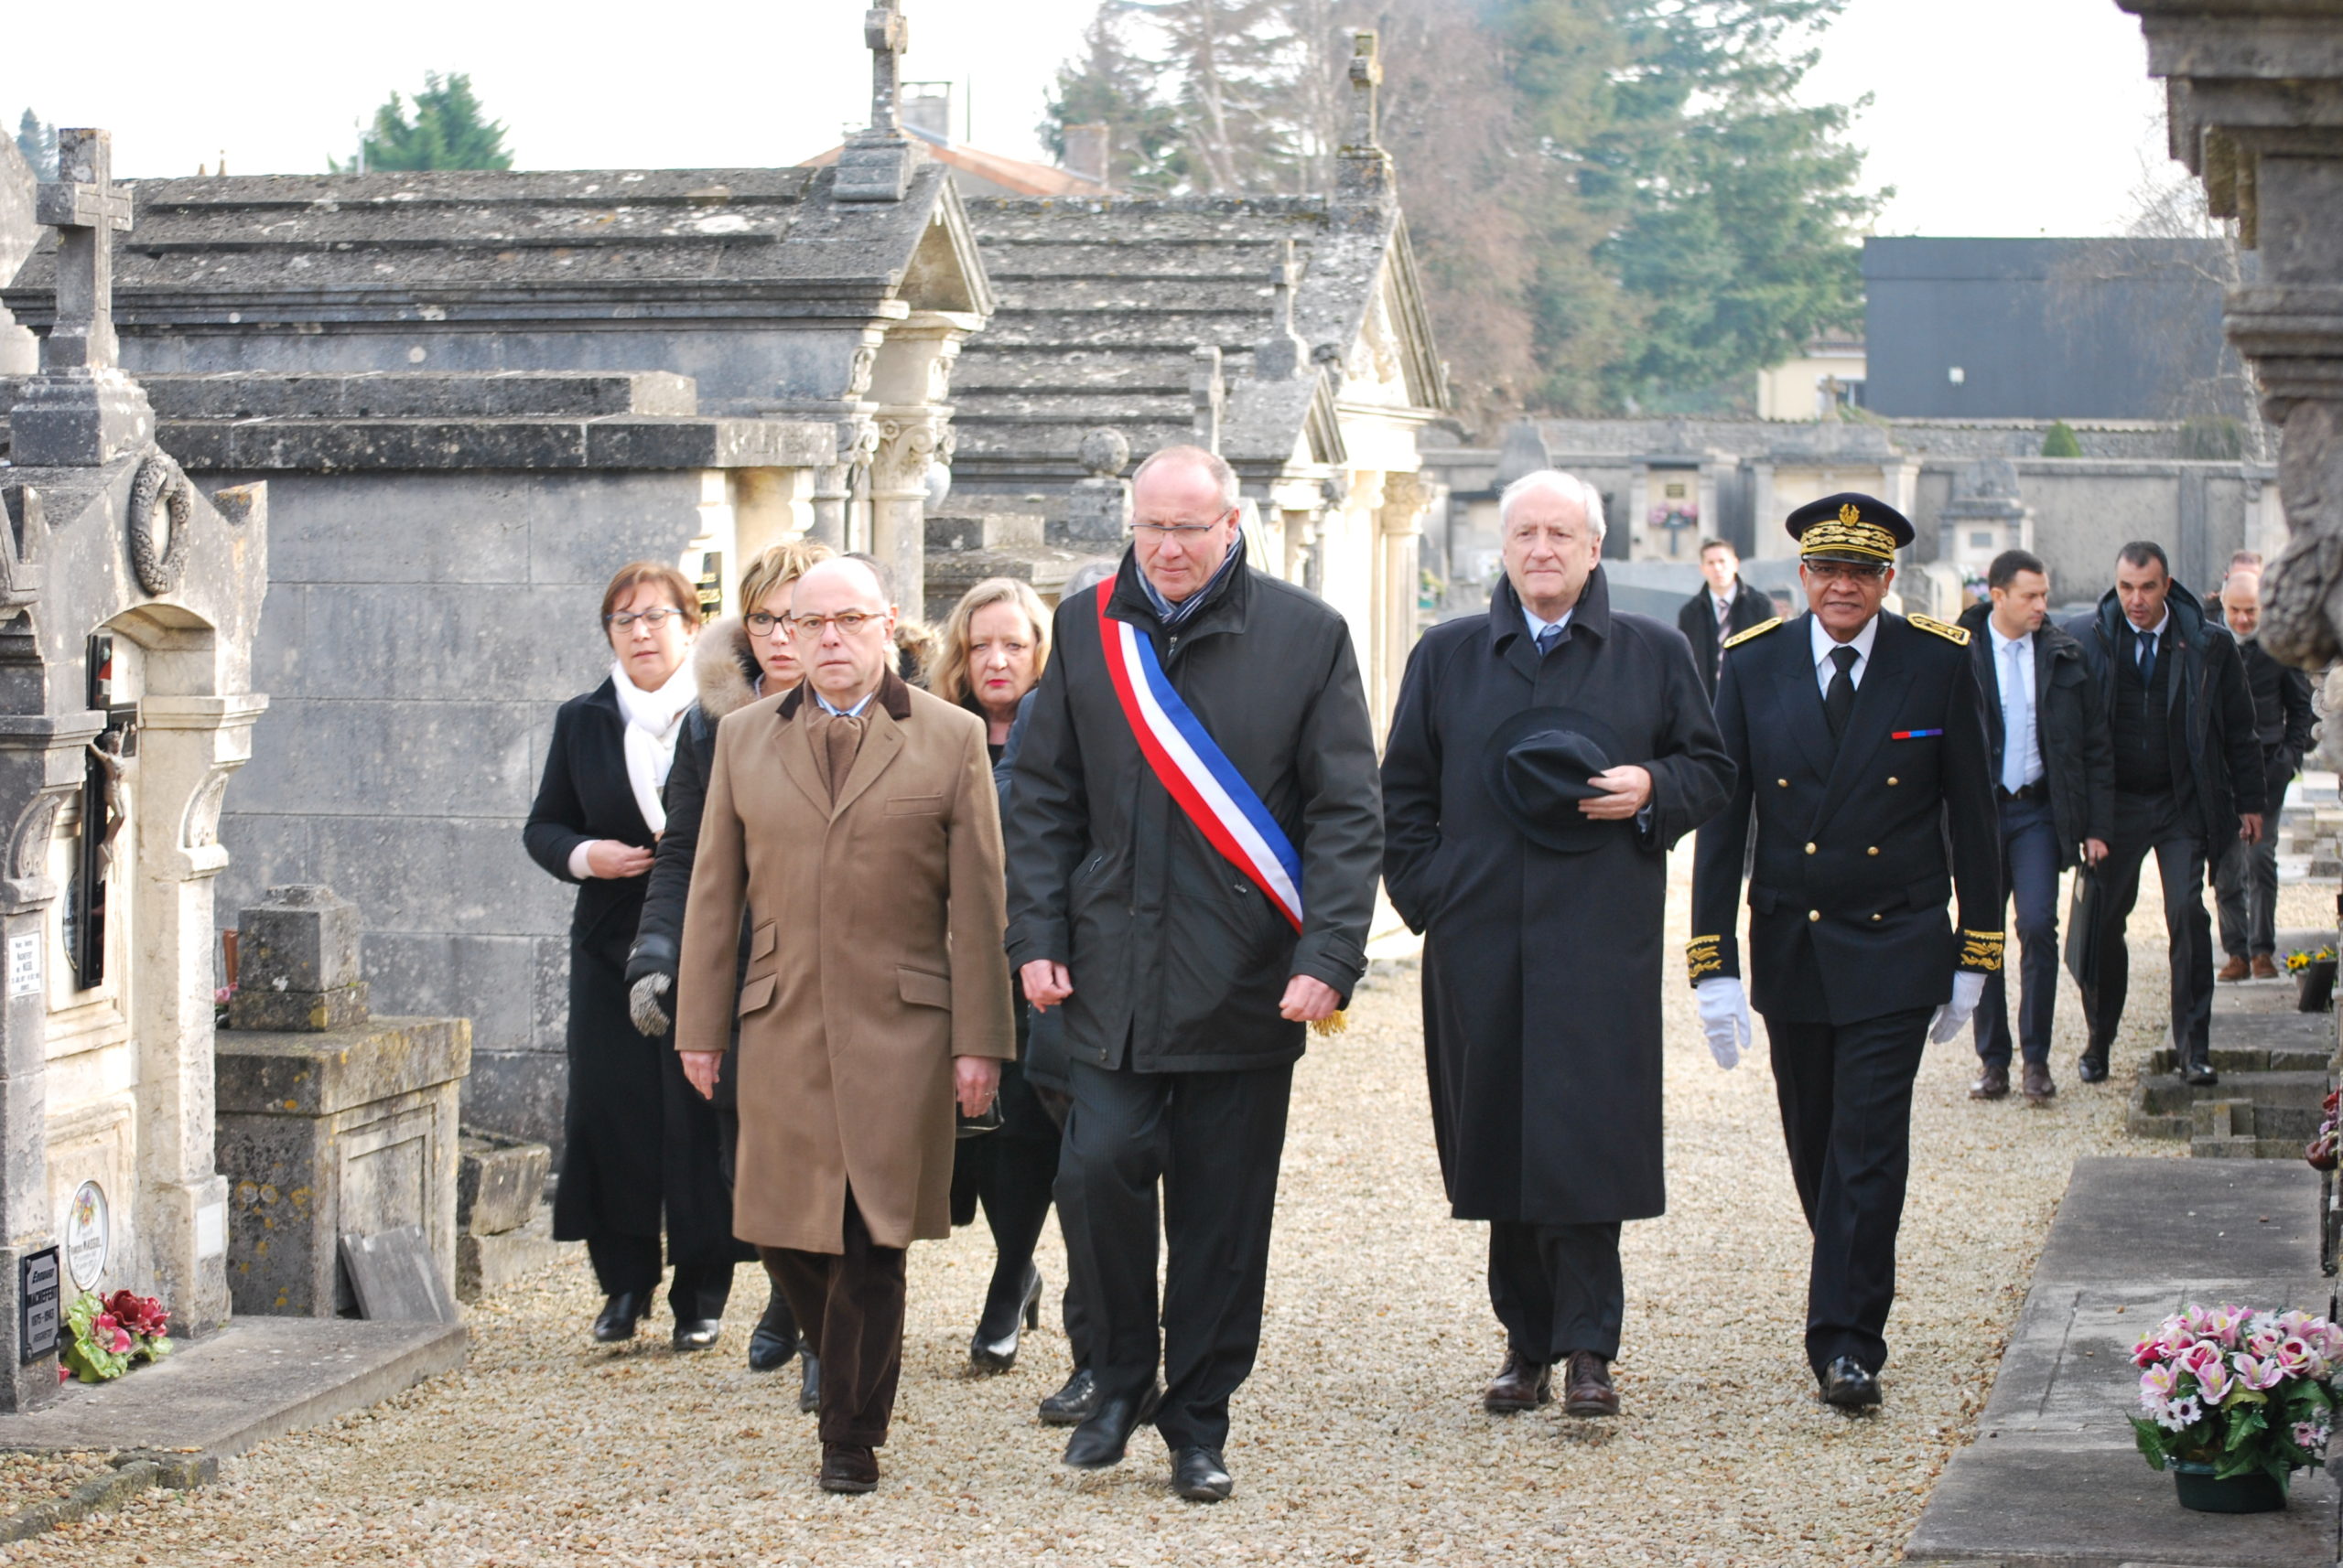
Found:
[{"label": "woman in long black coat with white scarf, short reddish hair", "polygon": [[626,955],[642,915],[665,784],[691,704],[686,658],[698,594],[675,566],[633,562],[602,594],[609,679],[553,718],[546,775],[522,843],[565,882],[569,920],[569,1100],[553,1236],[583,1240],[607,1301],[593,1334],[635,1336],[661,1275],[661,1229],[675,1280],[675,1348],[717,1343],[733,1261],[731,1194],[717,1161],[715,1107],[684,1081],[665,1037],[628,1016]]}]

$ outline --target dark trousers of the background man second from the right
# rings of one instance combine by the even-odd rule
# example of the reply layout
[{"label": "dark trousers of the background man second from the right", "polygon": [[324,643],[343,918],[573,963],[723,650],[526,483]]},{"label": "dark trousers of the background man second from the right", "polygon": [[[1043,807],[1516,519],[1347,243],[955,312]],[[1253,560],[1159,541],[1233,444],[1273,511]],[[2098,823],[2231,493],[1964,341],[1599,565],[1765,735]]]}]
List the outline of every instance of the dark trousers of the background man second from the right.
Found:
[{"label": "dark trousers of the background man second from the right", "polygon": [[2205,913],[2205,840],[2172,796],[2116,791],[2116,838],[2099,861],[2099,971],[2083,990],[2090,1051],[2106,1055],[2123,1025],[2130,953],[2123,927],[2139,903],[2139,873],[2149,852],[2165,887],[2165,938],[2172,960],[2172,1046],[2200,1062],[2212,1048],[2212,915]]}]

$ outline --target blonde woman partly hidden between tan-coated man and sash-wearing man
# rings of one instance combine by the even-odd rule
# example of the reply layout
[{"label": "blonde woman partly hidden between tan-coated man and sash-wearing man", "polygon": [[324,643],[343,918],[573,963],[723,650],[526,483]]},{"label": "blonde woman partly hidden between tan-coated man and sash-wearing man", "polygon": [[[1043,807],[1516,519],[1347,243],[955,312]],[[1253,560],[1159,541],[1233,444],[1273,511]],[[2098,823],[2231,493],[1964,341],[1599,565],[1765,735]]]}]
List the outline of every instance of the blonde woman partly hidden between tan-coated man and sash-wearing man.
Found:
[{"label": "blonde woman partly hidden between tan-coated man and sash-wearing man", "polygon": [[[1015,578],[986,578],[951,608],[942,655],[930,672],[930,690],[984,721],[984,737],[998,768],[1017,707],[1040,681],[1047,662],[1050,615],[1040,594]],[[1019,1329],[1040,1322],[1043,1280],[1033,1266],[1033,1245],[1050,1219],[1059,1130],[1024,1072],[1031,1051],[1029,1023],[1019,997],[1019,1060],[1000,1067],[1000,1128],[961,1140],[951,1170],[951,1222],[975,1222],[982,1203],[993,1231],[993,1280],[977,1315],[977,1332],[968,1341],[968,1360],[982,1371],[1015,1367]]]}]

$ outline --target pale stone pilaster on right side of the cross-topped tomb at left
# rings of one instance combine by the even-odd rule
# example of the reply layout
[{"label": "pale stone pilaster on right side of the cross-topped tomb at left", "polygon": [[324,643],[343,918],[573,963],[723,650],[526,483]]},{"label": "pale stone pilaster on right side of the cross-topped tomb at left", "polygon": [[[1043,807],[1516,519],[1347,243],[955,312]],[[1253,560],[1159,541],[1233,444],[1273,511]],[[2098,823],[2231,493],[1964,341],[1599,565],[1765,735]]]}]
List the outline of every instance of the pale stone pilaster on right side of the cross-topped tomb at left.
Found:
[{"label": "pale stone pilaster on right side of the cross-topped tomb at left", "polygon": [[[152,667],[152,658],[150,658]],[[141,1236],[173,1334],[227,1322],[227,1177],[213,1149],[211,894],[227,868],[220,800],[253,756],[262,695],[173,697],[138,704],[138,880],[131,901],[141,971],[138,1187]],[[162,962],[157,962],[162,960]]]}]

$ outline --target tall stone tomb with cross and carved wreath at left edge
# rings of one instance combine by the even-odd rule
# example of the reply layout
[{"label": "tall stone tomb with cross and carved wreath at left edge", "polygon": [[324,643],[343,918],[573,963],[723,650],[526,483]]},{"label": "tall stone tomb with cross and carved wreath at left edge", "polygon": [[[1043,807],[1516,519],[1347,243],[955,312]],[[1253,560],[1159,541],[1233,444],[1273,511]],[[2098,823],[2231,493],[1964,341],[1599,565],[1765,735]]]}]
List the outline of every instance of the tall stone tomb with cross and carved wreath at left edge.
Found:
[{"label": "tall stone tomb with cross and carved wreath at left edge", "polygon": [[[40,367],[12,384],[0,466],[0,1411],[56,1395],[23,1280],[63,1243],[80,1287],[162,1297],[173,1334],[227,1320],[213,1165],[213,878],[230,775],[267,704],[258,484],[204,496],[155,445],[115,358],[129,197],[103,131],[59,133],[61,180],[16,190],[56,229]],[[21,161],[0,183],[23,185]]]}]

